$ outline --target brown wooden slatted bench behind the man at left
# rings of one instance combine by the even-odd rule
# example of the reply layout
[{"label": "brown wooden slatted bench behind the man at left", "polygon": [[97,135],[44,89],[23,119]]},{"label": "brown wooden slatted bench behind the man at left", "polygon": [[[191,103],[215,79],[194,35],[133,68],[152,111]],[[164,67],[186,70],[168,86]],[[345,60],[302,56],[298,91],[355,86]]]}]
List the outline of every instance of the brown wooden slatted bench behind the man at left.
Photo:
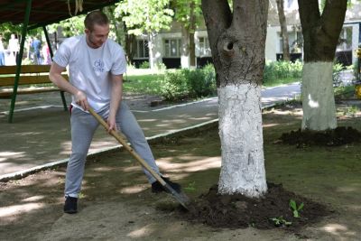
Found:
[{"label": "brown wooden slatted bench behind the man at left", "polygon": [[[16,66],[0,66],[0,98],[12,99],[9,122],[12,122],[13,119],[14,103],[17,95],[60,91],[64,110],[67,110],[64,91],[55,87],[49,79],[50,65],[23,65],[17,84],[16,70]],[[62,76],[69,79],[66,73],[63,73]]]}]

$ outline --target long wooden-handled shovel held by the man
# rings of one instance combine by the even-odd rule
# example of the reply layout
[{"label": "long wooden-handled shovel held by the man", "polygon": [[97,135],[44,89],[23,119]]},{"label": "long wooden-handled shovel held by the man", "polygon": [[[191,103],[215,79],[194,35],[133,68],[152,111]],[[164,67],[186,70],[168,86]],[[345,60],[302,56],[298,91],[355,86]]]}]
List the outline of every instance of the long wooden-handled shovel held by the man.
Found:
[{"label": "long wooden-handled shovel held by the man", "polygon": [[[103,118],[99,115],[97,115],[97,113],[91,108],[88,108],[88,112],[94,116],[97,121],[100,123],[100,125],[103,125],[106,130],[109,129],[109,126],[107,125],[107,123],[103,120]],[[190,201],[190,199],[183,193],[178,193],[176,190],[174,190],[173,188],[171,188],[171,186],[165,182],[164,180],[162,180],[161,176],[153,171],[153,169],[149,166],[149,164],[147,162],[144,161],[144,159],[134,151],[134,149],[127,144],[127,142],[125,141],[125,139],[118,134],[115,130],[111,130],[110,133],[111,135],[113,135],[116,138],[116,141],[118,141],[120,144],[122,144],[124,146],[124,148],[126,149],[126,151],[128,151],[129,153],[131,153],[134,158],[136,159],[136,161],[140,162],[140,164],[147,170],[149,171],[152,176],[159,181],[163,188],[165,188],[166,190],[169,190],[169,192],[171,193],[171,195],[178,200],[178,202],[180,202],[181,206],[183,206],[184,209],[189,210],[189,208],[187,207],[187,203]]]}]

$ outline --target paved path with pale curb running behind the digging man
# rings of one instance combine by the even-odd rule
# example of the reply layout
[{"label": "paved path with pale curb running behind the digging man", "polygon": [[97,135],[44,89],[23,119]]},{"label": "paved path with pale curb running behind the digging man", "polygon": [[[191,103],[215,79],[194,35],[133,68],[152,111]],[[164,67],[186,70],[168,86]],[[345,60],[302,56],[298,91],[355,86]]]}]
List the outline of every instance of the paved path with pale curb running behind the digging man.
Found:
[{"label": "paved path with pale curb running behind the digging man", "polygon": [[[298,83],[265,88],[262,91],[262,104],[263,107],[268,107],[299,94]],[[133,111],[144,134],[152,138],[217,121],[218,98]],[[67,161],[70,153],[69,113],[60,111],[60,107],[48,106],[23,111],[18,109],[14,117],[14,124],[7,124],[6,112],[0,113],[0,181],[42,165]],[[106,134],[103,128],[98,128],[89,153],[97,153],[117,145],[114,137]]]}]

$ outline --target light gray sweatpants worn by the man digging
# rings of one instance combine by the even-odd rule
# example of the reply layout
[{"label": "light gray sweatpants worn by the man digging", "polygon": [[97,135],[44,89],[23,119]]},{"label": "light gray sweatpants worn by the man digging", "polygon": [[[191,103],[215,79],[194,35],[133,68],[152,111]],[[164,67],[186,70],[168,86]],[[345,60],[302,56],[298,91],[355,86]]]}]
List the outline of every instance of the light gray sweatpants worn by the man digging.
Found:
[{"label": "light gray sweatpants worn by the man digging", "polygon": [[[109,115],[109,109],[97,113],[104,119]],[[65,196],[78,198],[81,181],[84,175],[84,167],[87,159],[88,149],[97,130],[97,120],[90,114],[83,112],[79,108],[73,107],[71,111],[71,155],[68,162]],[[147,162],[151,168],[160,174],[159,169],[154,161],[153,153],[149,147],[141,127],[138,125],[133,113],[129,107],[122,101],[116,113],[116,125],[125,134],[126,138],[132,144],[135,152],[138,153]],[[155,179],[144,170],[145,175],[150,183]]]}]

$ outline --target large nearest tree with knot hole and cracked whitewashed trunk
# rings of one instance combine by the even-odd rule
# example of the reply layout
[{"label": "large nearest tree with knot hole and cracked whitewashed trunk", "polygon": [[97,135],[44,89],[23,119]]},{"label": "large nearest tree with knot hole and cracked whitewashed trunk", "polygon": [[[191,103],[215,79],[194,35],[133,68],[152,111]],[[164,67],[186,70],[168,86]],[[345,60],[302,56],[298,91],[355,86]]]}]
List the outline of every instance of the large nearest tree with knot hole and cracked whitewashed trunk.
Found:
[{"label": "large nearest tree with knot hole and cracked whitewashed trunk", "polygon": [[[261,115],[261,84],[268,1],[202,0],[217,73],[221,194],[259,197],[267,190]],[[232,13],[233,12],[233,13]]]}]

